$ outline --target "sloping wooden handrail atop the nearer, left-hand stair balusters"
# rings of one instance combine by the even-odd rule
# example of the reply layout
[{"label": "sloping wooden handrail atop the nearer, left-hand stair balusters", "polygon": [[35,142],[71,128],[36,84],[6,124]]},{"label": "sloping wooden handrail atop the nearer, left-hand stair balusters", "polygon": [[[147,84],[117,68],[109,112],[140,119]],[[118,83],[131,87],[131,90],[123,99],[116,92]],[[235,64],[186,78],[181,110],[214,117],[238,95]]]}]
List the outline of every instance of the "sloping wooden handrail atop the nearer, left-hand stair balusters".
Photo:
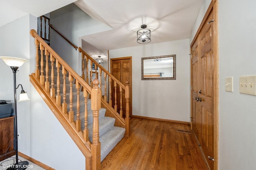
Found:
[{"label": "sloping wooden handrail atop the nearer, left-hand stair balusters", "polygon": [[[41,38],[40,36],[38,36],[36,30],[30,30],[30,35],[31,35],[32,37],[36,38],[36,40],[37,40],[38,42],[42,43],[44,47],[49,46],[46,42],[44,42],[44,40],[42,40],[42,38]],[[59,62],[61,65],[63,65],[63,66],[66,68],[66,70],[67,70],[69,73],[71,73],[72,76],[73,76],[76,80],[80,81],[80,83],[81,83],[83,86],[85,86],[85,87],[88,89],[88,91],[92,91],[92,87],[90,87],[90,85],[88,85],[88,84],[84,81],[84,79],[83,79],[82,77],[80,77],[80,75],[78,75],[78,74],[76,73],[76,71],[74,71],[74,69],[72,69],[72,68],[66,63],[66,61],[64,61],[64,60],[60,57],[60,55],[58,55],[50,46],[48,47],[47,50],[48,50],[51,54],[53,54],[53,55],[58,59],[58,62]]]}]

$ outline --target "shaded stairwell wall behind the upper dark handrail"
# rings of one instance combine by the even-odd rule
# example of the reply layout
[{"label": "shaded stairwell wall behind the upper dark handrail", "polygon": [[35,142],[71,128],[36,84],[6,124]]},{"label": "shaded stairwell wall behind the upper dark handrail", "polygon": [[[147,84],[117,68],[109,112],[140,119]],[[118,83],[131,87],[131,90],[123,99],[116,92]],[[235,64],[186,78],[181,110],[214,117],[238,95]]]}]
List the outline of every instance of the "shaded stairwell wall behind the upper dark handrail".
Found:
[{"label": "shaded stairwell wall behind the upper dark handrail", "polygon": [[[82,47],[81,36],[112,29],[88,16],[75,4],[50,12],[50,23],[78,47]],[[50,46],[81,75],[81,53],[53,30],[50,30],[50,41]]]}]

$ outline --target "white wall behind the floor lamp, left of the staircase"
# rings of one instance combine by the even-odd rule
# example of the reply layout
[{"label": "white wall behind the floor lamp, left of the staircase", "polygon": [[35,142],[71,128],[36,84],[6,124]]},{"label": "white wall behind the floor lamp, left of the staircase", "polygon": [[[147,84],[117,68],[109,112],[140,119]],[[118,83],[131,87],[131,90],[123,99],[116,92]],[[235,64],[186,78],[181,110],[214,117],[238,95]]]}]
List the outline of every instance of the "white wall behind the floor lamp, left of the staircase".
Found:
[{"label": "white wall behind the floor lamp, left of the staircase", "polygon": [[[20,57],[27,59],[16,73],[16,84],[22,84],[30,97],[30,21],[36,20],[33,16],[22,18],[6,24],[0,28],[0,56]],[[19,28],[19,29],[17,29]],[[33,28],[33,27],[31,27]],[[0,98],[10,99],[14,103],[13,73],[2,59],[0,59]],[[21,88],[17,89],[19,100]],[[18,141],[18,150],[23,153],[30,152],[30,101],[17,102],[18,133],[21,139]]]}]

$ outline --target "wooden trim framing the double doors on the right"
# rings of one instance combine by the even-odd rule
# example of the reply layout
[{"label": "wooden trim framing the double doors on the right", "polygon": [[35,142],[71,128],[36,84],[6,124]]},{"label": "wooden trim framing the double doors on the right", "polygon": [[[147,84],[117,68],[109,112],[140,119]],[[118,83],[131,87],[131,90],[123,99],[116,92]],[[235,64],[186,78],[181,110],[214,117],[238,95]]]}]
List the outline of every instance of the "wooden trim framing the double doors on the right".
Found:
[{"label": "wooden trim framing the double doors on the right", "polygon": [[[214,59],[214,89],[213,89],[213,93],[214,93],[214,170],[218,170],[218,149],[219,149],[219,145],[218,145],[218,141],[219,141],[219,55],[218,55],[218,47],[219,47],[219,34],[218,34],[218,0],[212,0],[212,2],[210,3],[208,10],[206,11],[206,14],[196,32],[196,35],[194,36],[193,41],[190,44],[190,49],[192,48],[192,45],[194,44],[194,42],[196,41],[196,38],[198,37],[199,33],[201,32],[204,24],[207,22],[207,18],[210,15],[210,13],[213,12],[214,15],[214,44],[213,44],[213,53],[215,56]],[[191,51],[191,50],[190,50]],[[190,63],[191,64],[191,63]],[[190,73],[192,73],[191,71],[191,67],[190,67]],[[192,76],[192,75],[190,75]],[[191,83],[192,86],[192,83]],[[192,91],[191,91],[192,94]],[[190,96],[192,97],[192,96]],[[191,117],[192,117],[192,98],[191,98],[191,102],[190,102],[190,111],[191,111]],[[190,119],[191,122],[191,119]],[[192,125],[192,124],[191,124]]]}]

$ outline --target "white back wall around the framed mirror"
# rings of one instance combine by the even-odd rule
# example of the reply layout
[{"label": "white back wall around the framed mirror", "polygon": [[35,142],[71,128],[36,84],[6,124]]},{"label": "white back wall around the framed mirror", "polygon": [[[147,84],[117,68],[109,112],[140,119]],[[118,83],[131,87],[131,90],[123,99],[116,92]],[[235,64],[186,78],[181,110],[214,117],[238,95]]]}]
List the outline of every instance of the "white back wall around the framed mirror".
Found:
[{"label": "white back wall around the framed mirror", "polygon": [[[132,115],[190,121],[189,39],[109,51],[132,56]],[[141,58],[176,54],[176,80],[141,80]]]}]

